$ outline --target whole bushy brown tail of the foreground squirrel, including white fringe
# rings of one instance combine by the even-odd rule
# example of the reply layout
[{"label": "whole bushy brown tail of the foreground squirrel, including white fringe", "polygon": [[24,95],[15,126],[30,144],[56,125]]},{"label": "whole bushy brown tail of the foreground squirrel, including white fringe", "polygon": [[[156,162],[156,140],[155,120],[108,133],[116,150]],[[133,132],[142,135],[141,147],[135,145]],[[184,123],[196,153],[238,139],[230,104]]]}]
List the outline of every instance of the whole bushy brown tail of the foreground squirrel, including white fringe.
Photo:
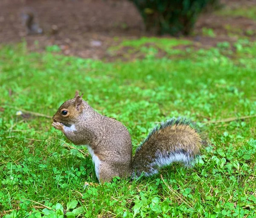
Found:
[{"label": "whole bushy brown tail of the foreground squirrel, including white fringe", "polygon": [[134,176],[151,176],[172,162],[190,165],[200,153],[201,139],[184,119],[171,119],[157,125],[137,148],[132,161]]}]

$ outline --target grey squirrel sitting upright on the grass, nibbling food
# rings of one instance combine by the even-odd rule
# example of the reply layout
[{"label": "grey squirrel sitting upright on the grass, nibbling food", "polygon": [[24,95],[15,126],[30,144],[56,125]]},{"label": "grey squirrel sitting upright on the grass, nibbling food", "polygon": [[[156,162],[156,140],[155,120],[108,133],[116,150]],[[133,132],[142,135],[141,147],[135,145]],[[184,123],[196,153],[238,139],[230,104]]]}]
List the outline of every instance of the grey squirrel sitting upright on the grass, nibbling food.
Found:
[{"label": "grey squirrel sitting upright on the grass, nibbling food", "polygon": [[183,119],[162,122],[151,130],[132,157],[131,136],[121,122],[97,113],[76,91],[52,117],[52,126],[76,145],[86,145],[100,183],[113,177],[151,176],[174,161],[189,166],[200,153],[201,139]]}]

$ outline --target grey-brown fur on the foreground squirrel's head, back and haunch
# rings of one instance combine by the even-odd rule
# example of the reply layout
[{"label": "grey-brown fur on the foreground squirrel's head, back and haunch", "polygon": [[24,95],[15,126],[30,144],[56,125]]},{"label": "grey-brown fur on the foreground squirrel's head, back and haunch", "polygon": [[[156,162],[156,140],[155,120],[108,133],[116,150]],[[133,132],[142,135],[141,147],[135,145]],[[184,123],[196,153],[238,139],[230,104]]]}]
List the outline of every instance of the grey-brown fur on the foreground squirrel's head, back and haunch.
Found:
[{"label": "grey-brown fur on the foreground squirrel's head, back and haunch", "polygon": [[[114,176],[130,176],[132,145],[126,127],[97,113],[85,101],[79,110],[76,107],[76,98],[64,102],[53,116],[53,121],[76,126],[76,131],[65,132],[63,128],[61,131],[74,144],[90,145],[101,161],[99,181],[111,181]],[[61,115],[64,108],[70,113],[67,117]]]}]

